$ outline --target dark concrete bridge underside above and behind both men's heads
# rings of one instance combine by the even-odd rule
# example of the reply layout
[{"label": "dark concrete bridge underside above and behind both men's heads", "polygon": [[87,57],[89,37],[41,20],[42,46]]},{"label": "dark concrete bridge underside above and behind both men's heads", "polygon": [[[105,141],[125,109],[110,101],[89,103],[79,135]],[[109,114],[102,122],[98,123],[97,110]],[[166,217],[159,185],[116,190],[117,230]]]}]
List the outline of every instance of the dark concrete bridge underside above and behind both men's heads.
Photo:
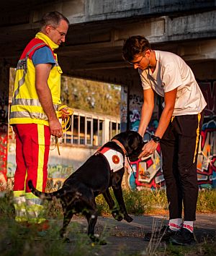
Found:
[{"label": "dark concrete bridge underside above and behind both men's heads", "polygon": [[122,60],[122,43],[145,35],[152,47],[182,56],[197,79],[216,78],[215,1],[6,1],[0,11],[0,58],[15,67],[42,14],[58,10],[71,25],[58,49],[63,73],[131,85],[138,72]]}]

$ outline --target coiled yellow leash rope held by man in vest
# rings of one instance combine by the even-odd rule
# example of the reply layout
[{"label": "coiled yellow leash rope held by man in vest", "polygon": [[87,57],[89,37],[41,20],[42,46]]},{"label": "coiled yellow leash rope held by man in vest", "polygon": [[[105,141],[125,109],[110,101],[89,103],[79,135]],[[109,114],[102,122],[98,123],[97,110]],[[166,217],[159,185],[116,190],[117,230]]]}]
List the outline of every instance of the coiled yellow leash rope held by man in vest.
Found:
[{"label": "coiled yellow leash rope held by man in vest", "polygon": [[[63,108],[66,108],[66,110],[68,111],[68,114],[61,111]],[[58,114],[57,114],[58,119],[62,119],[63,116],[66,116],[65,119],[63,119],[62,122],[61,122],[61,127],[62,127],[62,130],[63,130],[63,133],[67,132],[69,127],[71,127],[71,116],[72,115],[73,115],[73,109],[72,108],[68,108],[68,106],[66,106],[66,105],[60,106],[58,108]],[[58,149],[58,155],[60,155],[59,142],[58,142],[58,137],[57,136],[55,136],[55,147]]]}]

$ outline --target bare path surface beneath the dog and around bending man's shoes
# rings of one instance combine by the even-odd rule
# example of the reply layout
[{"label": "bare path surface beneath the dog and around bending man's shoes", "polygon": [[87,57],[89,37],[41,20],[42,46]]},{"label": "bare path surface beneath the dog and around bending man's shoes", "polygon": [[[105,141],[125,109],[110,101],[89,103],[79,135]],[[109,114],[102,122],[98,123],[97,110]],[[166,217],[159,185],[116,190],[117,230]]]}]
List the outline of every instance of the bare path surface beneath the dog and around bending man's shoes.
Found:
[{"label": "bare path surface beneath the dog and around bending man's shoes", "polygon": [[[124,255],[123,252],[127,252],[127,255],[145,252],[149,246],[149,243],[143,239],[145,233],[150,232],[153,226],[160,229],[168,222],[168,218],[164,216],[132,216],[132,218],[131,223],[118,222],[113,218],[98,218],[96,233],[102,234],[104,230],[103,236],[107,241],[107,245],[100,246],[100,256],[116,256],[120,252],[120,255]],[[81,229],[86,232],[86,219],[76,217],[73,221],[80,223]],[[198,214],[197,221],[194,223],[194,234],[197,242],[204,242],[204,239],[215,240],[215,232],[216,214]],[[154,244],[151,245],[155,246]],[[160,246],[166,245],[161,243]]]}]

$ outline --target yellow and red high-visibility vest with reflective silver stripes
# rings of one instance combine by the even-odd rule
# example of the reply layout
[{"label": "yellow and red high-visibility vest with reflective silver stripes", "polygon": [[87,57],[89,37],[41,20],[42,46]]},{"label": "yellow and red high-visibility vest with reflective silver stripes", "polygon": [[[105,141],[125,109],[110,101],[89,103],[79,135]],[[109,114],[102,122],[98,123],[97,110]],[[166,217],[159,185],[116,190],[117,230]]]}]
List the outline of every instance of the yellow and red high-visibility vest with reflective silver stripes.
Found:
[{"label": "yellow and red high-visibility vest with reflective silver stripes", "polygon": [[35,66],[32,55],[38,48],[48,46],[55,59],[55,66],[51,69],[48,78],[48,86],[53,98],[53,106],[56,113],[60,105],[60,74],[62,70],[58,65],[57,54],[54,50],[58,45],[53,43],[47,35],[37,33],[24,49],[17,64],[14,93],[10,111],[9,124],[45,124],[49,125],[48,116],[40,105],[35,88]]}]

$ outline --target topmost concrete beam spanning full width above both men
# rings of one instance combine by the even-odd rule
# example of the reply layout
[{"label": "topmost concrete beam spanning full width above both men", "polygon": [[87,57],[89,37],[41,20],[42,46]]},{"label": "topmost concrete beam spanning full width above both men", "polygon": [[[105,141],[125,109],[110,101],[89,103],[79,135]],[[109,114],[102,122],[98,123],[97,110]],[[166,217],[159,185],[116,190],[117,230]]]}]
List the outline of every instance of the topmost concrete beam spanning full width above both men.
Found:
[{"label": "topmost concrete beam spanning full width above both men", "polygon": [[0,26],[37,24],[42,14],[56,10],[71,24],[130,17],[195,13],[214,10],[215,0],[10,0],[1,6]]}]

